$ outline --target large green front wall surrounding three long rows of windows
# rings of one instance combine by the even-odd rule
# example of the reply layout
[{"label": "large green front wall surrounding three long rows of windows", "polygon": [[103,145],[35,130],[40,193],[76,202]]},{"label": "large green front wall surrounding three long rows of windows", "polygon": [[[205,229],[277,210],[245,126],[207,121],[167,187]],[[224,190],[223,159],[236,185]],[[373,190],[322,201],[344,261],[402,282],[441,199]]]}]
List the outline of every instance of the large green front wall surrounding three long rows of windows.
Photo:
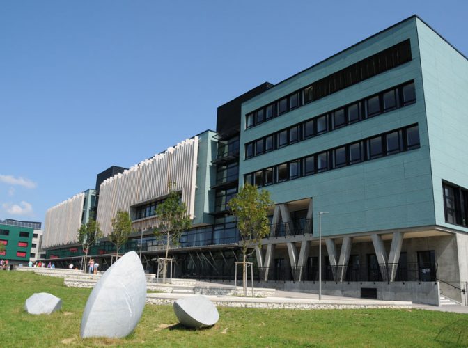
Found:
[{"label": "large green front wall surrounding three long rows of windows", "polygon": [[421,65],[414,17],[245,102],[242,106],[242,115],[407,38],[411,40],[413,56],[413,60],[409,63],[251,129],[244,129],[245,120],[242,117],[241,151],[243,153],[244,143],[258,139],[260,136],[318,116],[411,79],[414,79],[416,85],[416,104],[289,145],[260,157],[248,160],[241,159],[240,184],[242,185],[244,173],[281,164],[290,159],[310,155],[320,150],[334,148],[417,122],[421,138],[421,148],[417,150],[334,169],[290,182],[274,184],[267,187],[267,190],[272,193],[272,199],[276,203],[313,198],[313,228],[315,231],[318,230],[318,219],[316,219],[318,212],[329,212],[324,217],[322,224],[324,235],[434,224],[435,213],[426,110],[423,102]]}]

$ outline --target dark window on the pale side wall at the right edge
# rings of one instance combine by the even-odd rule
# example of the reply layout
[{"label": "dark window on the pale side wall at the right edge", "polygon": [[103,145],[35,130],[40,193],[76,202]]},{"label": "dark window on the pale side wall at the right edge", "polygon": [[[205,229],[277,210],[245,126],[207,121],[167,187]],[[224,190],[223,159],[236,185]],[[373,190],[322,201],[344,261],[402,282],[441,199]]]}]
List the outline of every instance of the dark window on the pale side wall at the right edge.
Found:
[{"label": "dark window on the pale side wall at the right edge", "polygon": [[468,189],[444,182],[445,221],[468,227]]}]

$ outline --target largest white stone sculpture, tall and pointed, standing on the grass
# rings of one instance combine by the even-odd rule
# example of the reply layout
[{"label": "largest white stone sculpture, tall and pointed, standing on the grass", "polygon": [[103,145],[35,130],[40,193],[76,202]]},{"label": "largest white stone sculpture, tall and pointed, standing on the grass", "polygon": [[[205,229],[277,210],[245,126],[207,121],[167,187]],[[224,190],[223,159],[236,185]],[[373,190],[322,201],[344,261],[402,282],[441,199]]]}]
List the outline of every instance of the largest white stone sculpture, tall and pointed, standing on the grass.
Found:
[{"label": "largest white stone sculpture, tall and pointed, standing on the grass", "polygon": [[126,253],[98,280],[81,319],[81,338],[122,338],[137,326],[146,300],[146,277],[138,254]]}]

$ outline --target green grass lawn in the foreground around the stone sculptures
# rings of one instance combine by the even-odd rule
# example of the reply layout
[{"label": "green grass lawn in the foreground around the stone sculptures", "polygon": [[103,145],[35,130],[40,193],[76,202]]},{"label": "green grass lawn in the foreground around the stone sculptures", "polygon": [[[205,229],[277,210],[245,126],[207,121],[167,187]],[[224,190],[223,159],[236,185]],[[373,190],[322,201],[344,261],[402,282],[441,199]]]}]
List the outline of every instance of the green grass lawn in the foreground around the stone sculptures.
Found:
[{"label": "green grass lawn in the foreground around the stone sculptures", "polygon": [[[49,292],[63,301],[52,315],[28,315],[24,301]],[[0,347],[456,347],[468,346],[468,315],[427,310],[265,310],[218,308],[211,329],[178,325],[172,306],[146,305],[134,333],[123,339],[79,338],[91,289],[62,278],[0,271]]]}]

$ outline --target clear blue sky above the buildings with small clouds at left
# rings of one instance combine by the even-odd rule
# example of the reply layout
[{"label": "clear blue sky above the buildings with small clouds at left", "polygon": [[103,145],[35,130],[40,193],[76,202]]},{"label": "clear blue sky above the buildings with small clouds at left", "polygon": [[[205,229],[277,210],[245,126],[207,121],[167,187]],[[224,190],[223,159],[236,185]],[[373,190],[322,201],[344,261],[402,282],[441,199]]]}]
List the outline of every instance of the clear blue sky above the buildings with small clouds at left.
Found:
[{"label": "clear blue sky above the buildings with small clouds at left", "polygon": [[1,1],[0,219],[205,129],[217,106],[418,14],[468,55],[468,1]]}]

